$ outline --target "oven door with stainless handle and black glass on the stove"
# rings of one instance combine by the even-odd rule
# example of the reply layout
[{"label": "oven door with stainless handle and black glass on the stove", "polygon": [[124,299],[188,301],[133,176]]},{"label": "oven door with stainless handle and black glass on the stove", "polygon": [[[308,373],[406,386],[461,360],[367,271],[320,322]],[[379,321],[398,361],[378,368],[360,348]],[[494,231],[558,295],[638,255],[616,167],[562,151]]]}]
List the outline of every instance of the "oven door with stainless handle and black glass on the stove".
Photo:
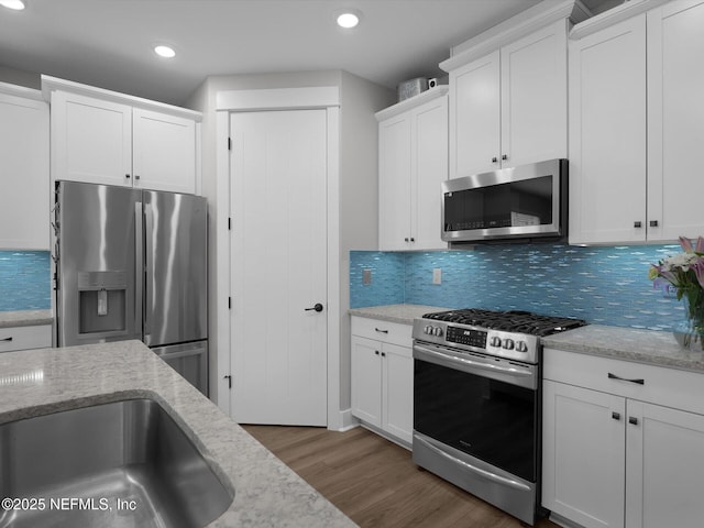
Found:
[{"label": "oven door with stainless handle and black glass on the stove", "polygon": [[537,365],[414,343],[414,429],[524,481],[538,480]]}]

